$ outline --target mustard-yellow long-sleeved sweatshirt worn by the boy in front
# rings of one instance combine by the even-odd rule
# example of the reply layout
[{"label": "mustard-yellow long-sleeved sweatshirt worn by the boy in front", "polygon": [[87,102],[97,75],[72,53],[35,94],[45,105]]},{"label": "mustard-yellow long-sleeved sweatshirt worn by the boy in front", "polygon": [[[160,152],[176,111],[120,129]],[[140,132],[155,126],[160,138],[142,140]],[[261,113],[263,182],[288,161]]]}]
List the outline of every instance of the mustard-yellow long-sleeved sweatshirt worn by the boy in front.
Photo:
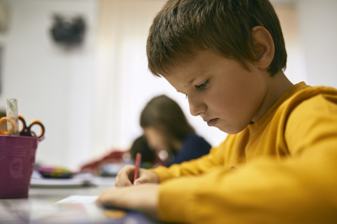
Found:
[{"label": "mustard-yellow long-sleeved sweatshirt worn by the boy in front", "polygon": [[337,90],[293,85],[209,155],[152,171],[162,221],[337,222]]}]

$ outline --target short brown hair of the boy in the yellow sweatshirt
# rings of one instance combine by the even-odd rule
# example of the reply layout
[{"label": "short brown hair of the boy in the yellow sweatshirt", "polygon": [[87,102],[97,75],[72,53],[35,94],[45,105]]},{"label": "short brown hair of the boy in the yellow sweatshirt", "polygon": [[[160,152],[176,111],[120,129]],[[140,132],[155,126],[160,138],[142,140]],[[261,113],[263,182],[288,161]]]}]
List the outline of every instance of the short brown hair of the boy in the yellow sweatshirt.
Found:
[{"label": "short brown hair of the boy in the yellow sweatshirt", "polygon": [[275,56],[267,71],[286,68],[286,48],[279,18],[268,0],[169,0],[154,18],[147,38],[147,59],[155,76],[168,75],[195,50],[211,50],[237,59],[246,69],[255,62],[251,29],[270,32]]}]

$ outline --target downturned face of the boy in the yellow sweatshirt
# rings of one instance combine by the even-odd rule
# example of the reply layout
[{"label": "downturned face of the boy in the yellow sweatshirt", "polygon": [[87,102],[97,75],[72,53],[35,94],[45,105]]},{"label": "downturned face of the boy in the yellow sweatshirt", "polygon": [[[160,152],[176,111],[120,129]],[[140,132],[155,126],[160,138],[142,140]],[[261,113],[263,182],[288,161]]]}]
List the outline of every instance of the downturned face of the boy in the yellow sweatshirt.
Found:
[{"label": "downturned face of the boy in the yellow sweatshirt", "polygon": [[166,80],[178,92],[187,94],[192,116],[201,116],[209,126],[236,134],[258,120],[267,94],[269,74],[249,64],[249,69],[234,59],[210,50],[200,50]]}]

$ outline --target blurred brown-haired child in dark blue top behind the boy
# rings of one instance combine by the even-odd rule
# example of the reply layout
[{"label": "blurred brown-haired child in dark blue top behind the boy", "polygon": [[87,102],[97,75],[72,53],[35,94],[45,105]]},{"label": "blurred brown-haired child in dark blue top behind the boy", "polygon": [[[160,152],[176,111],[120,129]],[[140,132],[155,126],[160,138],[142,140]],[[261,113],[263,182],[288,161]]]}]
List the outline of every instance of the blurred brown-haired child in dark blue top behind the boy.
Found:
[{"label": "blurred brown-haired child in dark blue top behind the boy", "polygon": [[209,153],[211,145],[195,134],[180,106],[160,95],[148,102],[140,114],[147,144],[159,153],[167,152],[166,165],[196,159]]}]

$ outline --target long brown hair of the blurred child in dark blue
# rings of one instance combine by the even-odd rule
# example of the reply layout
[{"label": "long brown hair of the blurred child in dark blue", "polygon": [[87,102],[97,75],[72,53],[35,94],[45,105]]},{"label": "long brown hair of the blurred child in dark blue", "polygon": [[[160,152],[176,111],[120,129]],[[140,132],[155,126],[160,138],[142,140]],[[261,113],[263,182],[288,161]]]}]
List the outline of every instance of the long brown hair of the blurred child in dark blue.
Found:
[{"label": "long brown hair of the blurred child in dark blue", "polygon": [[140,126],[154,127],[167,137],[183,141],[187,134],[194,133],[193,127],[180,106],[166,95],[154,97],[140,114]]}]

